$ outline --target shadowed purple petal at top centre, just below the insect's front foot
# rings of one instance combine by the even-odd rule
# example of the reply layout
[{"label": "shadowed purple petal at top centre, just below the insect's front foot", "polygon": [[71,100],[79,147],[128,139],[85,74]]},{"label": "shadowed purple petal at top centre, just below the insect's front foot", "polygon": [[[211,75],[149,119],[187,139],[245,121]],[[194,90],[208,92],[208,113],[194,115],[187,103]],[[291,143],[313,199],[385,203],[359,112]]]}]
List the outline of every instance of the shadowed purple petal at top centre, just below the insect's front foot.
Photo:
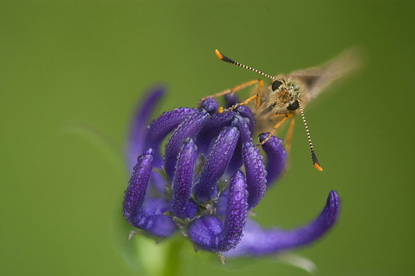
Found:
[{"label": "shadowed purple petal at top centre, just below the insect's front foot", "polygon": [[215,113],[210,116],[203,128],[196,136],[196,145],[198,147],[198,153],[206,155],[211,148],[212,141],[219,135],[219,132],[225,127],[229,126],[230,121],[236,115],[235,112],[222,112]]}]

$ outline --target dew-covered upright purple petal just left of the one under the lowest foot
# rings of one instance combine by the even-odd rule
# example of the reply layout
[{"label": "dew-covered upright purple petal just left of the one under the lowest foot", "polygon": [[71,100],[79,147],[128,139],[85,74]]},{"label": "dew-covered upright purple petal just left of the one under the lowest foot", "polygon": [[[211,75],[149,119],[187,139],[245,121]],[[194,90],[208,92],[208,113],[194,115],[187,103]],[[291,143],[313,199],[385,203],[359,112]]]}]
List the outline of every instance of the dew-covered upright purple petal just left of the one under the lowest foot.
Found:
[{"label": "dew-covered upright purple petal just left of the one under the lowest foot", "polygon": [[242,148],[243,164],[246,170],[246,183],[249,193],[248,210],[259,204],[259,201],[265,195],[266,175],[264,157],[259,155],[259,149],[254,144],[246,142]]}]

